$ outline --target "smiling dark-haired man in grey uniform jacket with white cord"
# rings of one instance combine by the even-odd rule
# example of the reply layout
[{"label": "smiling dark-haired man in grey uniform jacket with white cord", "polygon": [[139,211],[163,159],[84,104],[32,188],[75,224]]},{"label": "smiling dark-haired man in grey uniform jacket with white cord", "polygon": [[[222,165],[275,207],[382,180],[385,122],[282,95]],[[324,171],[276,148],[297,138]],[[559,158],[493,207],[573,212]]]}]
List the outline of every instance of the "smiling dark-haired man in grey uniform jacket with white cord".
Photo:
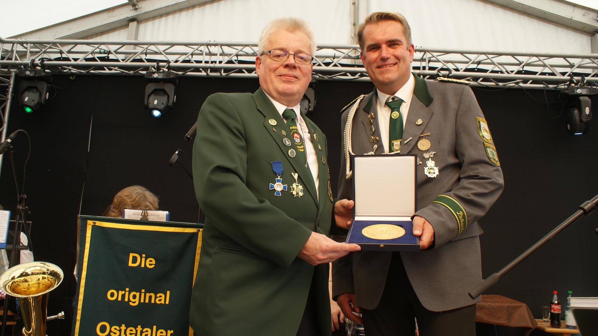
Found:
[{"label": "smiling dark-haired man in grey uniform jacket with white cord", "polygon": [[[343,136],[350,134],[343,143],[350,146],[343,145],[338,197],[353,198],[347,151],[417,154],[413,234],[421,250],[361,251],[338,259],[333,297],[347,317],[364,323],[368,336],[413,335],[415,318],[420,336],[475,335],[478,300],[467,293],[481,280],[477,221],[503,188],[492,135],[469,87],[411,74],[414,47],[401,14],[370,14],[358,38],[376,88],[343,113]],[[396,120],[402,136],[392,129]]]}]

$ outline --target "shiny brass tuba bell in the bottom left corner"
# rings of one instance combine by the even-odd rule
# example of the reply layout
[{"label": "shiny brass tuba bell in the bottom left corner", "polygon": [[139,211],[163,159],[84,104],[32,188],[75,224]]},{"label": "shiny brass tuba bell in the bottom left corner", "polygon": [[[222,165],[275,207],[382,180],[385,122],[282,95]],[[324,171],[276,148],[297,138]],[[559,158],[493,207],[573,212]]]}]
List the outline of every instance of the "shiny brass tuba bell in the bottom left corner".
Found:
[{"label": "shiny brass tuba bell in the bottom left corner", "polygon": [[48,293],[60,285],[63,273],[50,262],[27,262],[0,276],[0,289],[16,297],[23,316],[23,336],[45,336]]}]

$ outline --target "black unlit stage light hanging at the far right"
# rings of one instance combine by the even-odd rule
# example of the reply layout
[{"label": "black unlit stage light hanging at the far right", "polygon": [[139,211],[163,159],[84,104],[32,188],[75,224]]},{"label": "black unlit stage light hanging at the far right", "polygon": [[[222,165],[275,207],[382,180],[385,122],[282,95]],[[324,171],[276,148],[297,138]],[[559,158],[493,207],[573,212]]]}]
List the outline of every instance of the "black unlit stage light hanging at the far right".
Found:
[{"label": "black unlit stage light hanging at the far right", "polygon": [[588,96],[597,93],[595,87],[573,85],[559,92],[559,99],[565,100],[567,132],[570,135],[582,135],[590,130],[592,108]]}]

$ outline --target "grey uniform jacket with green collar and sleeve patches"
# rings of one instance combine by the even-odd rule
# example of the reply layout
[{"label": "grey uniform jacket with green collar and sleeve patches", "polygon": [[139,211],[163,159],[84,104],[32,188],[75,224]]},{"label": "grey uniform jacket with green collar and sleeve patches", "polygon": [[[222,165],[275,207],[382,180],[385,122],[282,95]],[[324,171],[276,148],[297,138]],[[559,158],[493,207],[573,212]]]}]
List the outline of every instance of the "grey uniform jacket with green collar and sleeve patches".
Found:
[{"label": "grey uniform jacket with green collar and sleeve patches", "polygon": [[[401,154],[417,154],[416,215],[434,227],[434,245],[426,251],[401,252],[405,271],[420,302],[428,310],[444,311],[469,306],[468,291],[481,281],[480,240],[477,221],[502,192],[503,179],[492,135],[471,88],[462,84],[425,81],[415,76],[414,96],[404,127]],[[377,118],[375,131],[368,124],[371,112],[377,117],[376,90],[365,96],[353,117],[352,151],[382,152]],[[342,130],[350,107],[342,117]],[[421,119],[421,123],[418,120]],[[419,136],[426,136],[434,151],[432,160],[438,175],[430,178],[424,169],[428,159],[417,148]],[[344,134],[343,134],[344,137]],[[411,140],[408,140],[410,139]],[[408,141],[407,141],[408,140]],[[344,139],[343,139],[344,143]],[[344,148],[343,148],[344,153]],[[346,179],[343,155],[338,198],[353,198],[352,181]],[[360,251],[338,259],[332,265],[332,294],[355,293],[357,304],[377,307],[388,274],[392,252]]]}]

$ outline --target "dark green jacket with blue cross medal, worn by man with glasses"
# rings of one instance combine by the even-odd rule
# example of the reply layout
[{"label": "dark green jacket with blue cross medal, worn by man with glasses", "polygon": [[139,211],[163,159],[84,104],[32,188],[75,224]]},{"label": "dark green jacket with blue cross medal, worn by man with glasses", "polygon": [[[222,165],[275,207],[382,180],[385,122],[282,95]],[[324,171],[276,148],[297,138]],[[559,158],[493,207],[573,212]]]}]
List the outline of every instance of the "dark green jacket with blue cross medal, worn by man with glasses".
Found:
[{"label": "dark green jacket with blue cross medal, worn by man with glasses", "polygon": [[[189,318],[200,336],[294,336],[312,276],[321,334],[331,333],[327,267],[297,257],[312,231],[329,233],[332,215],[326,138],[303,118],[319,158],[319,201],[309,168],[288,154],[291,132],[261,88],[203,103],[193,176],[206,222]],[[282,196],[269,188],[273,161],[282,161]],[[302,197],[290,192],[291,173]]]}]

